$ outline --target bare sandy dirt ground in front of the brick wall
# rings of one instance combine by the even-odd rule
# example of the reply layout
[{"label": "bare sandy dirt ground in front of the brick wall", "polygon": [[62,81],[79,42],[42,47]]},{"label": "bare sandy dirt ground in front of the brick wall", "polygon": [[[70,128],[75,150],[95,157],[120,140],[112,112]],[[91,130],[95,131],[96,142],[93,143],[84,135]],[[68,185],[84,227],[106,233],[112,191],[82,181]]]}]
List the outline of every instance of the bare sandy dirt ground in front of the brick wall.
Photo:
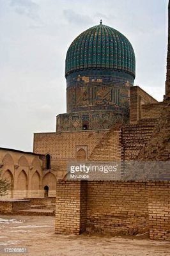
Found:
[{"label": "bare sandy dirt ground in front of the brick wall", "polygon": [[[143,237],[54,234],[54,217],[0,215],[0,248],[27,248],[33,256],[169,256],[170,243]],[[16,255],[6,253],[6,255]]]}]

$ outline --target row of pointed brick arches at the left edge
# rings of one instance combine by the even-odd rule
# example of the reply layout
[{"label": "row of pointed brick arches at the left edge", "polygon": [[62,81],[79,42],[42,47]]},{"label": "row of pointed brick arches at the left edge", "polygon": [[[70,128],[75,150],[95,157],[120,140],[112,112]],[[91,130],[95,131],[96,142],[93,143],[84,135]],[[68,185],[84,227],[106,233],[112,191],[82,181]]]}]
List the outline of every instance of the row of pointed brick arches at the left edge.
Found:
[{"label": "row of pointed brick arches at the left edge", "polygon": [[8,195],[1,198],[43,197],[45,186],[49,188],[48,196],[55,196],[56,174],[47,170],[49,164],[45,156],[0,148],[0,174],[11,184]]}]

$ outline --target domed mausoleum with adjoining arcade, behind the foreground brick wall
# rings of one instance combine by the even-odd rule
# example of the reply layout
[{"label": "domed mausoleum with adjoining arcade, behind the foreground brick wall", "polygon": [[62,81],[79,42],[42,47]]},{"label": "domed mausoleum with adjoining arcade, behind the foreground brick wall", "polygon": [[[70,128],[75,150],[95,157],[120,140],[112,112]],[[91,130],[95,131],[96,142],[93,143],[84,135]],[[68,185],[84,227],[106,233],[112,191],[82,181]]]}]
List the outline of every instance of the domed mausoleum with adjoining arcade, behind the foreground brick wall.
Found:
[{"label": "domed mausoleum with adjoining arcade, behind the foreground brick wall", "polygon": [[65,77],[67,113],[57,116],[56,132],[35,133],[33,153],[0,148],[8,197],[56,196],[70,161],[135,159],[166,104],[134,86],[134,49],[102,22],[73,40]]}]

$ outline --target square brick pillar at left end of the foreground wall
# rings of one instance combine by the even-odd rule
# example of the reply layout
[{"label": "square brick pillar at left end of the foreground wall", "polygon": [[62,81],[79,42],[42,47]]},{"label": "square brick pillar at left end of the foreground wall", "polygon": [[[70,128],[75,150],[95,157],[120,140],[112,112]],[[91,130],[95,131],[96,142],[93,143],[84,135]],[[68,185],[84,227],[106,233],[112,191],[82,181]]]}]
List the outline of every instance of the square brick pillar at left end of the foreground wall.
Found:
[{"label": "square brick pillar at left end of the foreground wall", "polygon": [[58,180],[55,231],[81,234],[86,229],[86,181]]}]

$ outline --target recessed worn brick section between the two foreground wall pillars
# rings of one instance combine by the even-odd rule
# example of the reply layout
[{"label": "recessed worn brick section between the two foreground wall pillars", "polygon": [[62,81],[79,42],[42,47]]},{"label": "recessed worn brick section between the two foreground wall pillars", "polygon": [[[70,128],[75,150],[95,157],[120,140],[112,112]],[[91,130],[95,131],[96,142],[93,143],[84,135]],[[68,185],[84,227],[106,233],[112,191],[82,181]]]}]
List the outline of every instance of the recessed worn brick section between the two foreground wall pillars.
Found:
[{"label": "recessed worn brick section between the two foreground wall pillars", "polygon": [[144,182],[88,182],[87,227],[95,232],[137,234],[148,229]]}]

